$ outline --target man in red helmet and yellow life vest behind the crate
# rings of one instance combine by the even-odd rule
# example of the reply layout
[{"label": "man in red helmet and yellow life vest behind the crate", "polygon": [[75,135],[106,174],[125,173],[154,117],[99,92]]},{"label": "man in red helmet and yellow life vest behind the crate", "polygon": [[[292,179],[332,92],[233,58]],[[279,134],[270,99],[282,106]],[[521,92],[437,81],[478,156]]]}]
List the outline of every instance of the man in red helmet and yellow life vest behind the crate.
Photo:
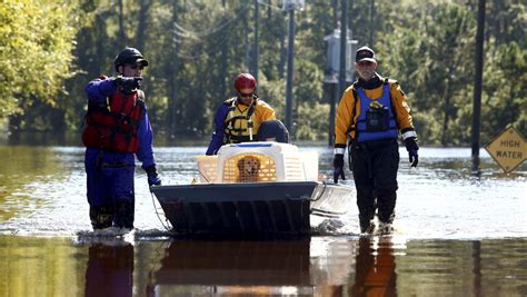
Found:
[{"label": "man in red helmet and yellow life vest behind the crate", "polygon": [[255,93],[257,82],[250,73],[240,73],[235,80],[237,97],[221,103],[215,116],[215,132],[206,155],[216,155],[226,143],[257,141],[264,121],[275,120],[275,109]]}]

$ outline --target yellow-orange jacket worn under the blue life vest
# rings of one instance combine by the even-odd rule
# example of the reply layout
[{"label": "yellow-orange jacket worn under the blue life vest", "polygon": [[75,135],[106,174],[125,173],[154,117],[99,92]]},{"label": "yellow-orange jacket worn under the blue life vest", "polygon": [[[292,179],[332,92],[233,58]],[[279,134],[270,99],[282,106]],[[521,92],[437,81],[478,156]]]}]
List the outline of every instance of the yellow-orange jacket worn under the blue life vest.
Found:
[{"label": "yellow-orange jacket worn under the blue life vest", "polygon": [[[378,87],[374,89],[365,89],[366,96],[374,100],[379,99],[382,96],[382,82],[385,82],[385,78],[378,78],[381,82]],[[395,110],[397,129],[400,130],[404,139],[416,137],[410,115],[410,107],[406,102],[405,92],[402,92],[396,80],[389,79],[388,83],[390,86],[390,98]],[[347,140],[355,139],[355,126],[360,113],[360,99],[357,93],[354,96],[354,92],[356,92],[356,86],[357,83],[354,83],[346,89],[340,98],[340,103],[337,107],[337,116],[335,119],[336,149],[346,148]],[[344,150],[338,151],[338,154],[344,154]]]}]

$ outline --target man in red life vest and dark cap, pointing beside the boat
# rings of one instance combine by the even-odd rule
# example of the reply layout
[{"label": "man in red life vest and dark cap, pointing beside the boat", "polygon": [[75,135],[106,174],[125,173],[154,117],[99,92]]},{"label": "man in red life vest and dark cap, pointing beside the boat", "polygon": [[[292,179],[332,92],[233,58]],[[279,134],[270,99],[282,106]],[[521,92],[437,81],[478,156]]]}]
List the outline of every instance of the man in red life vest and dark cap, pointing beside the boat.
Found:
[{"label": "man in red life vest and dark cap, pointing beside the boat", "polygon": [[93,230],[131,230],[135,219],[135,156],[142,162],[149,186],[161,185],[152,151],[152,129],[142,70],[141,52],[126,48],[113,61],[116,77],[88,83],[88,112],[82,141],[86,148],[87,196]]}]

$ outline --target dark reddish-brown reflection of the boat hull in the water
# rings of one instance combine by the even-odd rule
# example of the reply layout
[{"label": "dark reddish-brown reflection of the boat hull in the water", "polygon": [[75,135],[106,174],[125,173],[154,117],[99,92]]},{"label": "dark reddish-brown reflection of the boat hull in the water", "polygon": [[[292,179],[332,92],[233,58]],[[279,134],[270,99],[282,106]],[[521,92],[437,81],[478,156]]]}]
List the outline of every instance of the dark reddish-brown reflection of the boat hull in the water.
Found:
[{"label": "dark reddish-brown reflection of the boat hull in the water", "polygon": [[309,239],[175,241],[153,271],[151,294],[312,294]]}]

